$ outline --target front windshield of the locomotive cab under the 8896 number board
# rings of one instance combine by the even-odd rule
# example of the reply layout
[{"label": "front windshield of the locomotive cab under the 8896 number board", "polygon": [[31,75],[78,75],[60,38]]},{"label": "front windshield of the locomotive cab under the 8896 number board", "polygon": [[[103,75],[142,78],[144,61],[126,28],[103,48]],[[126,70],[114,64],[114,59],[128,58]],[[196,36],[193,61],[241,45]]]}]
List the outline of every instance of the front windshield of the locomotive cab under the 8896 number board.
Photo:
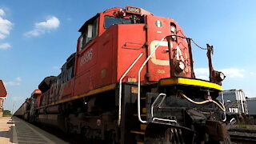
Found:
[{"label": "front windshield of the locomotive cab under the 8896 number board", "polygon": [[135,23],[143,23],[140,19],[129,19],[129,18],[116,18],[112,16],[106,15],[104,17],[104,27],[109,28],[114,24],[135,24]]}]

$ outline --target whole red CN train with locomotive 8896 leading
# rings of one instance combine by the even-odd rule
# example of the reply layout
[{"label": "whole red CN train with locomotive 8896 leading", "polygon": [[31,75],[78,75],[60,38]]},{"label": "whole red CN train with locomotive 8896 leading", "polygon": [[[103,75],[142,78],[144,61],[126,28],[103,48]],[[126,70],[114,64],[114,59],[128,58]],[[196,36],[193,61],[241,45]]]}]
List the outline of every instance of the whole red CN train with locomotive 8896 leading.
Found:
[{"label": "whole red CN train with locomotive 8896 leading", "polygon": [[[43,79],[15,115],[87,143],[230,142],[218,101],[225,75],[195,78],[191,38],[172,18],[134,6],[86,21],[62,73]],[[202,48],[202,47],[201,47]]]}]

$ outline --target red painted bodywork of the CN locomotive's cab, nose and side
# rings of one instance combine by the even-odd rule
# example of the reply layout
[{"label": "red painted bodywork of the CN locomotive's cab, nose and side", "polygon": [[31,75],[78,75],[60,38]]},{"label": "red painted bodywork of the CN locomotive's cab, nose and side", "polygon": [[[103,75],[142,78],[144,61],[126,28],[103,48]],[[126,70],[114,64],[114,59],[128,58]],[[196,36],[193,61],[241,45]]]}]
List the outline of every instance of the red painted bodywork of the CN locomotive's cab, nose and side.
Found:
[{"label": "red painted bodywork of the CN locomotive's cab, nose and side", "polygon": [[[137,7],[134,8],[138,9]],[[98,13],[94,17],[98,18],[98,35],[88,42],[82,50],[79,48],[81,40],[78,38],[74,78],[71,78],[62,85],[54,84],[50,90],[38,97],[38,106],[45,106],[52,102],[85,94],[90,90],[119,82],[122,74],[138,58],[138,55],[143,53],[142,58],[138,60],[126,75],[126,78],[123,79],[123,82],[128,82],[129,80],[138,82],[140,66],[142,66],[147,56],[151,54],[150,50],[153,50],[154,46],[157,45],[157,43],[153,45],[154,42],[170,35],[171,23],[176,26],[177,34],[184,36],[183,30],[172,18],[154,16],[142,9],[126,12],[127,9],[121,10],[114,7]],[[139,14],[136,14],[138,11]],[[133,15],[136,18],[144,17],[145,22],[138,24],[116,24],[109,28],[104,26],[105,16],[132,18],[134,17]],[[85,29],[86,25],[93,20],[88,20],[79,31],[82,34],[88,31]],[[177,38],[177,41],[172,41],[171,55],[166,52],[168,50],[167,46],[160,46],[156,50],[155,57],[151,58],[142,70],[142,83],[158,82],[161,78],[174,76],[174,71],[171,71],[172,74],[170,76],[170,57],[182,59],[187,67],[186,71],[182,71],[182,76],[191,78],[190,54],[186,39]],[[179,57],[177,57],[178,55]],[[162,62],[167,63],[167,65],[161,64]]]}]

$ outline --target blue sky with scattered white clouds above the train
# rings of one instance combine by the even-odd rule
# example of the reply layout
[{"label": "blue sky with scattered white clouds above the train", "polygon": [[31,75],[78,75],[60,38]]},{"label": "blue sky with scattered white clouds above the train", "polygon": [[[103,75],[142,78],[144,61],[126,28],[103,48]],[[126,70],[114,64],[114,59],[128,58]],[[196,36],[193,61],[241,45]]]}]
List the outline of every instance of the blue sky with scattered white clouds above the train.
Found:
[{"label": "blue sky with scattered white clouds above the train", "polygon": [[[199,46],[214,46],[214,70],[226,74],[224,90],[256,97],[256,1],[254,0],[1,0],[0,79],[5,110],[18,109],[42,79],[58,75],[76,50],[78,30],[98,12],[137,6],[174,18]],[[209,79],[206,51],[192,45],[197,78]]]}]

